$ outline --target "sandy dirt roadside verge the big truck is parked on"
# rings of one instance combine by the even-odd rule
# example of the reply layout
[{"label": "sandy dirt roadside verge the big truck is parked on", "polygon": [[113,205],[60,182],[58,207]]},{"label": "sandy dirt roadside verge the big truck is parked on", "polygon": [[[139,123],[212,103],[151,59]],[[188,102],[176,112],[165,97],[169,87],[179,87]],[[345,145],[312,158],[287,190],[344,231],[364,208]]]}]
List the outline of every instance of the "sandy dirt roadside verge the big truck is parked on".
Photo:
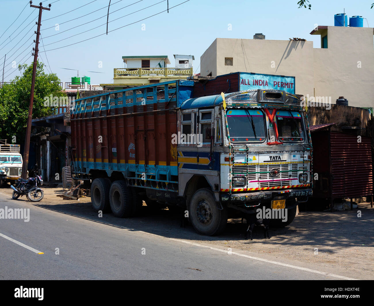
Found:
[{"label": "sandy dirt roadside verge the big truck is parked on", "polygon": [[[282,229],[270,228],[270,239],[255,228],[253,240],[245,240],[245,224],[229,219],[226,230],[217,237],[197,234],[191,225],[180,226],[180,216],[167,208],[151,212],[144,204],[139,217],[119,219],[111,213],[101,218],[91,208],[91,198],[79,201],[56,197],[62,188],[43,188],[45,196],[37,205],[60,213],[106,223],[131,231],[144,231],[167,238],[186,239],[198,244],[251,252],[269,260],[305,266],[359,279],[374,279],[374,208],[359,203],[358,208],[345,211],[301,211],[294,221]],[[0,198],[11,199],[12,189],[0,189]],[[361,213],[361,217],[358,215]],[[339,272],[339,273],[338,273]]]}]

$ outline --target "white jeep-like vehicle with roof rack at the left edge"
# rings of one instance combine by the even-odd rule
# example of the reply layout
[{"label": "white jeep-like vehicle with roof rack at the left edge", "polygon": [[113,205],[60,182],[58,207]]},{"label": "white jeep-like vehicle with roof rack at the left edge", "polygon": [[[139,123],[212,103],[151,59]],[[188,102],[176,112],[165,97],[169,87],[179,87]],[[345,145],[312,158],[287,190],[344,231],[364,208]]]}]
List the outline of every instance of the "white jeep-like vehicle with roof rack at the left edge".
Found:
[{"label": "white jeep-like vehicle with roof rack at the left edge", "polygon": [[10,182],[14,184],[22,174],[22,156],[20,146],[0,139],[0,186]]}]

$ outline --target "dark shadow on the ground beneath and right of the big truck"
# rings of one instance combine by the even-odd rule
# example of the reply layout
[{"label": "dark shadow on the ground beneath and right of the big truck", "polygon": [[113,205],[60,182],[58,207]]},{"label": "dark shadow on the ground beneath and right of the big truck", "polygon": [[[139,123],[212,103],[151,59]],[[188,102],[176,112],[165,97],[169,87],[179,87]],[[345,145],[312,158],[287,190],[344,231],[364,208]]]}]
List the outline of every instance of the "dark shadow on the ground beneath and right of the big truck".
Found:
[{"label": "dark shadow on the ground beneath and right of the big truck", "polygon": [[[163,209],[151,211],[143,205],[138,217],[120,219],[113,214],[98,214],[91,208],[89,198],[85,203],[77,201],[61,200],[62,204],[35,204],[49,210],[71,216],[129,229],[131,231],[143,231],[166,238],[193,239],[199,241],[240,241],[243,244],[261,242],[274,244],[276,247],[285,246],[328,246],[325,251],[331,254],[343,247],[373,247],[374,209],[370,204],[361,203],[358,209],[348,211],[308,211],[302,212],[291,225],[275,229],[270,228],[270,239],[264,239],[263,229],[255,228],[253,241],[244,240],[246,225],[241,223],[241,218],[230,219],[223,234],[215,237],[207,237],[197,234],[193,226],[188,224],[182,228],[180,214]],[[361,217],[358,217],[361,211]],[[245,222],[245,221],[244,221]]]}]

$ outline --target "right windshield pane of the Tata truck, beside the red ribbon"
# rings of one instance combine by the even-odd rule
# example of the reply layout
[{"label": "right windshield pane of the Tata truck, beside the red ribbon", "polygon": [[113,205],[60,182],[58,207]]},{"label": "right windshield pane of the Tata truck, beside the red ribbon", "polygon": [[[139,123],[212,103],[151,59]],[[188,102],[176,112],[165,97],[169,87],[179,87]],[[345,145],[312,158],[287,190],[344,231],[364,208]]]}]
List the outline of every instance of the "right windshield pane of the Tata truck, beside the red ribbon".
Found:
[{"label": "right windshield pane of the Tata truck, beside the red ribbon", "polygon": [[303,120],[299,112],[277,111],[276,123],[279,140],[282,142],[303,142],[305,138]]}]

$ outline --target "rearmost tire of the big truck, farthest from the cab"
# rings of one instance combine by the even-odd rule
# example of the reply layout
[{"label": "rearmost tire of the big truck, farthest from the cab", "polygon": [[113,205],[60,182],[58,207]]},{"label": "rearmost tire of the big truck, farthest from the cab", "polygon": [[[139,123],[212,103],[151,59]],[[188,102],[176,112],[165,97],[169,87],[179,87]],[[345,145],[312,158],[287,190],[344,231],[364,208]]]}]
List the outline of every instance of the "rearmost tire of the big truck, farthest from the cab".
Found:
[{"label": "rearmost tire of the big truck, farthest from the cab", "polygon": [[109,205],[110,180],[106,178],[94,179],[91,184],[91,203],[96,212],[101,210],[103,213],[110,211]]}]

